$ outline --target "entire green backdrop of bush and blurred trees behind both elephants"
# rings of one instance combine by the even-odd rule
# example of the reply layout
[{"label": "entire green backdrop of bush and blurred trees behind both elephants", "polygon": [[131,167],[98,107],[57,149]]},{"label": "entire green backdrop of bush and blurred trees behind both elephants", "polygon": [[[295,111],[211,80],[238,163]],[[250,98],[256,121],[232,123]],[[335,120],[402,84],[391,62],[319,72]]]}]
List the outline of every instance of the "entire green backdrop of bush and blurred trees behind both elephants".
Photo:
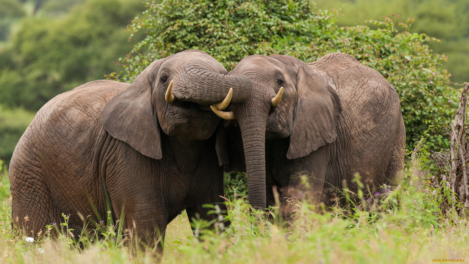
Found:
[{"label": "entire green backdrop of bush and blurred trees behind both elephants", "polygon": [[429,147],[447,147],[455,83],[469,73],[468,8],[463,0],[0,0],[0,159],[8,165],[55,95],[106,77],[130,82],[151,61],[190,48],[227,70],[251,54],[304,62],[351,54],[398,91],[408,149],[430,124]]}]

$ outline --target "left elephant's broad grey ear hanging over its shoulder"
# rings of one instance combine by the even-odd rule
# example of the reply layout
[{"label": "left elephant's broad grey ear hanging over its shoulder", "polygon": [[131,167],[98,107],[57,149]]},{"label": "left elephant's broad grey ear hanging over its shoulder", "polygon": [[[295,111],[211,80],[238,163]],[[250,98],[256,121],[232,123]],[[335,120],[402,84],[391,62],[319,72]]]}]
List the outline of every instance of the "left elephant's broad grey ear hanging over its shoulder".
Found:
[{"label": "left elephant's broad grey ear hanging over its shoulder", "polygon": [[109,101],[103,110],[104,129],[138,152],[161,159],[161,138],[155,108],[151,105],[153,75],[165,59],[152,62],[122,93]]}]

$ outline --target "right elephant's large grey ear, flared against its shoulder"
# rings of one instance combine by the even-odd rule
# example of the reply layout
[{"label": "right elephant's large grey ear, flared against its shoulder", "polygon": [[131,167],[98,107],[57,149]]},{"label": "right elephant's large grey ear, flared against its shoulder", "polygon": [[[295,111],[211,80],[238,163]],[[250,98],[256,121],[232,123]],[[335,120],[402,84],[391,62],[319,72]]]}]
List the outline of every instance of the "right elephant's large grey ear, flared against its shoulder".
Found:
[{"label": "right elephant's large grey ear, flared against its shoulder", "polygon": [[[297,59],[296,59],[297,60]],[[296,101],[287,158],[309,155],[337,137],[342,111],[339,95],[307,64],[297,60]]]}]

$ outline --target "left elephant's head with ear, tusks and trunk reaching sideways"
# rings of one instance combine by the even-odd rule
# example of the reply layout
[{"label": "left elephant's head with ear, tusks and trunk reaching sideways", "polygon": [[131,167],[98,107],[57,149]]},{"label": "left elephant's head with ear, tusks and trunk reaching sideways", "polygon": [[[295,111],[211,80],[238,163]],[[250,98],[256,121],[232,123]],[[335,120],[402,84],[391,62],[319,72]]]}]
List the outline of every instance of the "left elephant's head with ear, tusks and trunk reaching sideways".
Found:
[{"label": "left elephant's head with ear, tusks and trunk reaching sideways", "polygon": [[219,109],[230,100],[246,100],[251,83],[245,76],[229,76],[212,56],[187,50],[152,62],[106,104],[106,131],[143,155],[161,159],[159,127],[169,136],[205,140],[217,129]]}]

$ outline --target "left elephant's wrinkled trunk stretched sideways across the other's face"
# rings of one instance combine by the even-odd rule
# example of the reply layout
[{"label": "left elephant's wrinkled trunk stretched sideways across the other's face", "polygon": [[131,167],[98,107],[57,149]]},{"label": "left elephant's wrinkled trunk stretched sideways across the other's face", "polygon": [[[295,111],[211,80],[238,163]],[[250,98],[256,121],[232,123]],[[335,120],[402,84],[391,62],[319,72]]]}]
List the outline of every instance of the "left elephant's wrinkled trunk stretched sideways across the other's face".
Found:
[{"label": "left elephant's wrinkled trunk stretched sideways across the other's face", "polygon": [[223,101],[233,88],[231,102],[245,101],[251,94],[252,84],[244,75],[227,75],[207,70],[190,70],[174,83],[173,94],[178,101],[192,101],[213,105]]}]

